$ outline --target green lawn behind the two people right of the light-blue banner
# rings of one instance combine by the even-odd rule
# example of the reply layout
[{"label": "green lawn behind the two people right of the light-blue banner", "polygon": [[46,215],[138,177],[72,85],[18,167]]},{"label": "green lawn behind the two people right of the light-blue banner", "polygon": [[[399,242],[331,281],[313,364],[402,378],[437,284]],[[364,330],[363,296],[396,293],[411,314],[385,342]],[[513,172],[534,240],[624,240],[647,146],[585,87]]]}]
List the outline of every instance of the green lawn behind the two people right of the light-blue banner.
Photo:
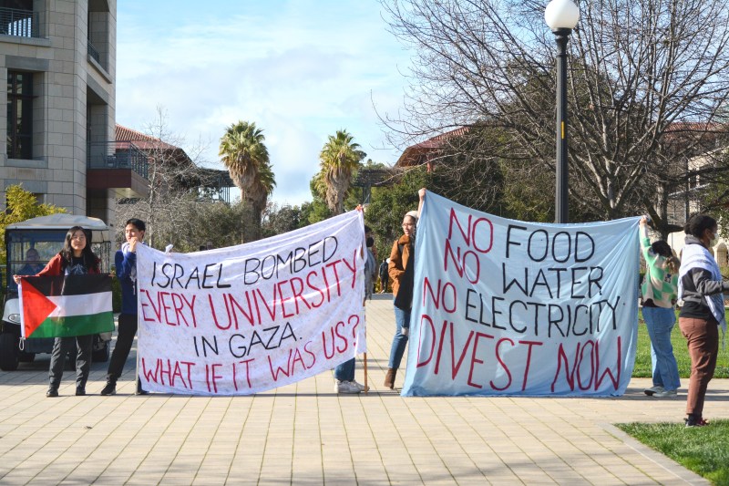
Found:
[{"label": "green lawn behind the two people right of the light-blue banner", "polygon": [[[633,368],[632,376],[651,377],[651,341],[648,338],[648,331],[645,330],[645,323],[643,323],[642,314],[639,315],[639,319],[638,349],[635,353],[635,368]],[[729,321],[729,315],[727,315],[727,321]],[[721,336],[722,331],[720,330],[720,340]],[[673,326],[671,341],[673,343],[673,355],[676,357],[676,362],[678,363],[679,375],[682,378],[688,378],[689,375],[691,375],[691,358],[689,357],[689,352],[686,348],[686,339],[681,335],[681,329],[678,327],[678,313],[676,313],[676,325]],[[729,377],[729,350],[722,349],[721,342],[719,343],[719,358],[716,361],[714,377]],[[686,385],[688,385],[688,382],[684,381],[682,386],[685,388]]]}]

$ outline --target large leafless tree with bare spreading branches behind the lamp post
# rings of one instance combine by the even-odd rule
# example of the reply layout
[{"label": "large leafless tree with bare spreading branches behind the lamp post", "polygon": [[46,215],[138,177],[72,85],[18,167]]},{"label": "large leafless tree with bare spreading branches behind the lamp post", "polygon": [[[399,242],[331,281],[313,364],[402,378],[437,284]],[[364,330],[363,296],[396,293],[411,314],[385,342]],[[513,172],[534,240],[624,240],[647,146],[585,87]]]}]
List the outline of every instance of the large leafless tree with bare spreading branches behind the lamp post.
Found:
[{"label": "large leafless tree with bare spreading branches behind the lamp post", "polygon": [[[484,154],[554,172],[556,47],[544,2],[382,3],[415,50],[403,112],[385,120],[395,142],[477,123],[501,134]],[[580,2],[568,44],[569,166],[570,199],[586,212],[649,212],[668,227],[666,201],[692,175],[681,161],[724,139],[728,17],[729,0]]]}]

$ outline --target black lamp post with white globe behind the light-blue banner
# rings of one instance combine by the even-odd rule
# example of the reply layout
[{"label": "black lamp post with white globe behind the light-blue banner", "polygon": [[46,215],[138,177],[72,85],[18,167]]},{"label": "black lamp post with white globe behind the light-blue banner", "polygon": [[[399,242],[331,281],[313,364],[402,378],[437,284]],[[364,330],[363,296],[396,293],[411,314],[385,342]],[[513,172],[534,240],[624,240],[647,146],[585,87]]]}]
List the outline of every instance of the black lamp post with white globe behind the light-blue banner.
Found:
[{"label": "black lamp post with white globe behind the light-blue banner", "polygon": [[555,222],[568,222],[567,171],[567,43],[580,20],[580,8],[572,0],[552,0],[544,10],[544,20],[557,41],[557,191]]}]

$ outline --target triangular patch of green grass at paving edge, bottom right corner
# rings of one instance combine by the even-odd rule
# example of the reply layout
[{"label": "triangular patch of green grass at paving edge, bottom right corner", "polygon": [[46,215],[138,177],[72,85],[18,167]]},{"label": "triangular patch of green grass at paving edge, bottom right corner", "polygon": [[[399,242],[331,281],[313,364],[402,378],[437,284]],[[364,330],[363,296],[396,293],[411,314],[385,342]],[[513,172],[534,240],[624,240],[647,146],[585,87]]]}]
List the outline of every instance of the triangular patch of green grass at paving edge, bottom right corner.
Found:
[{"label": "triangular patch of green grass at paving edge, bottom right corner", "polygon": [[617,427],[712,483],[729,486],[729,420],[712,420],[706,427],[678,423]]}]

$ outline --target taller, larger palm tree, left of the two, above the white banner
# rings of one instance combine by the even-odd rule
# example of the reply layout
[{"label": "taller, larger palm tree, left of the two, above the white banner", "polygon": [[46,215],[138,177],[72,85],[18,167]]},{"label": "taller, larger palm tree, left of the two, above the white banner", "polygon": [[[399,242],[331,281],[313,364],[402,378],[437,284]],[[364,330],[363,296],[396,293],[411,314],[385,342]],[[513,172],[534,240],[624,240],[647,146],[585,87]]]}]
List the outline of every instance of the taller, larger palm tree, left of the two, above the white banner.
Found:
[{"label": "taller, larger palm tree, left of the two, above the white banner", "polygon": [[241,190],[241,199],[248,207],[252,222],[247,240],[261,238],[261,214],[276,185],[264,140],[263,130],[247,121],[233,123],[221,138],[222,163]]}]

